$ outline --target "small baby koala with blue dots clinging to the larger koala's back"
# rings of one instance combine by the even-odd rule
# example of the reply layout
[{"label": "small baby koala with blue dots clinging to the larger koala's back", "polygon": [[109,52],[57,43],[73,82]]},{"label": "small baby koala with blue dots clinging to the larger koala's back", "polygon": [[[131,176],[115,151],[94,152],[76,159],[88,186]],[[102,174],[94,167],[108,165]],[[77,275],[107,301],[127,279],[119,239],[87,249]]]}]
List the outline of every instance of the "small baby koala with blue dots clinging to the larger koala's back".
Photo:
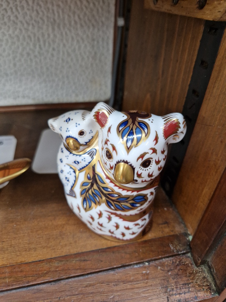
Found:
[{"label": "small baby koala with blue dots clinging to the larger koala's back", "polygon": [[76,181],[74,167],[80,171],[89,165],[96,155],[96,149],[91,147],[98,137],[95,122],[90,118],[89,111],[74,110],[48,120],[48,124],[62,139],[57,166],[66,197],[76,197],[73,189]]}]

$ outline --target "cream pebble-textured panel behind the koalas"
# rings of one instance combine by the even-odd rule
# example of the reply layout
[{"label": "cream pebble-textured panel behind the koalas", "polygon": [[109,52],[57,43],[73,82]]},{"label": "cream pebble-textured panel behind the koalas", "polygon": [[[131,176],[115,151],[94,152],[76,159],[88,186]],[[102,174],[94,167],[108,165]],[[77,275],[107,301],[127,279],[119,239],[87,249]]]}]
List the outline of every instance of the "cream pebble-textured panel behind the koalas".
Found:
[{"label": "cream pebble-textured panel behind the koalas", "polygon": [[0,106],[105,101],[114,0],[2,0]]}]

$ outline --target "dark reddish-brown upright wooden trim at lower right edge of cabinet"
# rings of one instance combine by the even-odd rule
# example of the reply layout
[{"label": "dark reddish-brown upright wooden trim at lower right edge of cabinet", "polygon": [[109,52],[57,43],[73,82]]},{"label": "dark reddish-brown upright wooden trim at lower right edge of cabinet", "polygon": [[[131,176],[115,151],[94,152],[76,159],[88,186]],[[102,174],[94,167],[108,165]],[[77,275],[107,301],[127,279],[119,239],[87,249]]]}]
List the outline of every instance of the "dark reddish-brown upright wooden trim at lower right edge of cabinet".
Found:
[{"label": "dark reddish-brown upright wooden trim at lower right edge of cabinet", "polygon": [[[192,238],[192,254],[196,265],[206,259],[212,243],[226,220],[226,169]],[[222,230],[224,233],[226,230]],[[215,248],[215,247],[213,247]],[[226,253],[226,251],[225,251]],[[225,261],[226,265],[226,261]]]}]

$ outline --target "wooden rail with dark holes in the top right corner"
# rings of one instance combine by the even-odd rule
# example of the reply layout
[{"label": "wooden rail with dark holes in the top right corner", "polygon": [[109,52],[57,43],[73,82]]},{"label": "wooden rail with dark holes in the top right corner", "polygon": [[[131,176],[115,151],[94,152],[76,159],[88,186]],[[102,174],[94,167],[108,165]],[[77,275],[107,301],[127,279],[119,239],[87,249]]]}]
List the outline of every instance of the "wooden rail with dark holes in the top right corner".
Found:
[{"label": "wooden rail with dark holes in the top right corner", "polygon": [[[222,0],[179,0],[177,5],[173,5],[172,0],[157,0],[156,2],[155,5],[153,0],[145,0],[145,8],[205,20],[226,21],[226,3]],[[206,5],[202,8],[205,2]]]}]

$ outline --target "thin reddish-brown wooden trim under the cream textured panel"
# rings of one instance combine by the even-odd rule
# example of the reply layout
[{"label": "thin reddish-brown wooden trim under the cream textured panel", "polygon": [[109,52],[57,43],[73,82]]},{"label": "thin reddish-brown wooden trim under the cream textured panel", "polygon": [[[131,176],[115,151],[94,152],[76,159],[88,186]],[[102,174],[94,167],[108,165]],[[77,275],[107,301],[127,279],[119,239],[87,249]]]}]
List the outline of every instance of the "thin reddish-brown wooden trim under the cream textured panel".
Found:
[{"label": "thin reddish-brown wooden trim under the cream textured panel", "polygon": [[34,104],[18,106],[0,106],[1,112],[34,111],[46,109],[84,109],[93,108],[98,102],[58,103],[58,104]]}]

